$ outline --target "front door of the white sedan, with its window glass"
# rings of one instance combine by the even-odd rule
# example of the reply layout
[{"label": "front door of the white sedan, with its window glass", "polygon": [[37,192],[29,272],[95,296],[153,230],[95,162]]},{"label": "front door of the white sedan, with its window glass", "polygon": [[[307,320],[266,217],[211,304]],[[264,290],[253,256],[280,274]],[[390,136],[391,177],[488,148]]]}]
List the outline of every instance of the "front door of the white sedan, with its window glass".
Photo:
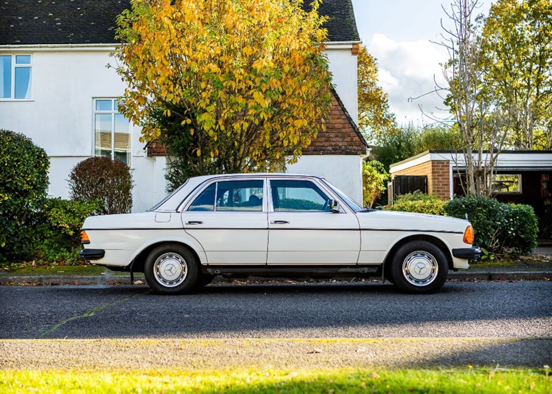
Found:
[{"label": "front door of the white sedan, with its window glass", "polygon": [[356,215],[312,179],[269,179],[268,265],[351,265],[358,261],[360,230]]}]

